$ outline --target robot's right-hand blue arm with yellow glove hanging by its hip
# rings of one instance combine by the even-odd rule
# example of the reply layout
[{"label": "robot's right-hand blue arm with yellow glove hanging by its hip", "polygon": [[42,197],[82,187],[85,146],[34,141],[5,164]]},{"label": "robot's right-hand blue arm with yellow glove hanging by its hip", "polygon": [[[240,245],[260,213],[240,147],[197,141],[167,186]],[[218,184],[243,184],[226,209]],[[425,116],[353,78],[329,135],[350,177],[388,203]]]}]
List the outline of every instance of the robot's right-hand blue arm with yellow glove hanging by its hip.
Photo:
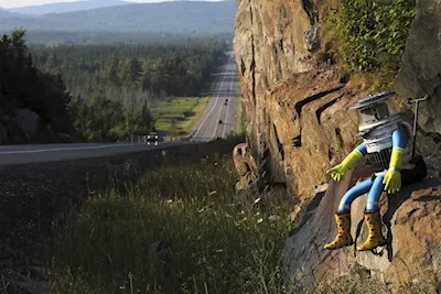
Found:
[{"label": "robot's right-hand blue arm with yellow glove hanging by its hip", "polygon": [[389,170],[385,175],[383,183],[385,190],[395,194],[401,188],[402,161],[405,157],[406,133],[401,129],[397,129],[392,133],[392,153],[390,156]]}]

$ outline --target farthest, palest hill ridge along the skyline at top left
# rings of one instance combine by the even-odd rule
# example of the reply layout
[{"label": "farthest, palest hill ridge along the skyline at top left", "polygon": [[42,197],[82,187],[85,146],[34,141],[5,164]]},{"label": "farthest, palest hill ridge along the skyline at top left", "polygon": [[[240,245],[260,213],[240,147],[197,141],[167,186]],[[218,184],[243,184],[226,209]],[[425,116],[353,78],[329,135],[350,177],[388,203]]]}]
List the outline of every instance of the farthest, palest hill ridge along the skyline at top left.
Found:
[{"label": "farthest, palest hill ridge along the skyline at top left", "polygon": [[88,0],[88,1],[76,1],[67,3],[52,3],[43,6],[31,6],[22,8],[8,9],[9,12],[29,14],[29,15],[42,15],[46,13],[64,13],[79,10],[90,10],[105,7],[116,7],[130,4],[129,2],[120,0]]}]

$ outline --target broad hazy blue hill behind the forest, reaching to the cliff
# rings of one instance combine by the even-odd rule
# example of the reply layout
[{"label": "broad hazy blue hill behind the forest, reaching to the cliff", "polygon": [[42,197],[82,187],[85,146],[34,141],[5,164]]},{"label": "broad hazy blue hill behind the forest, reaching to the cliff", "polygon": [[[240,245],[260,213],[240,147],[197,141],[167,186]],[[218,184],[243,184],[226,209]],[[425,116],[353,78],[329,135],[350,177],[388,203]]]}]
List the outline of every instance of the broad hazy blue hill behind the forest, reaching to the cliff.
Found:
[{"label": "broad hazy blue hill behind the forest, reaching to the cliff", "polygon": [[37,18],[0,18],[0,30],[104,32],[233,32],[235,1],[125,4]]}]

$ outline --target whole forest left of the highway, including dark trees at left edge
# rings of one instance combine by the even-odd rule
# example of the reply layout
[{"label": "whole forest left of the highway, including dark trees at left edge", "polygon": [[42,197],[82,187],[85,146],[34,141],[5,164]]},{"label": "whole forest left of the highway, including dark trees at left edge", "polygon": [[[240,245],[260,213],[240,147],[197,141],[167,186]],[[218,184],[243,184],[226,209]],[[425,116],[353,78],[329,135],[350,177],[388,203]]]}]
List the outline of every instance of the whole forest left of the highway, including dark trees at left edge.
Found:
[{"label": "whole forest left of the highway, including dark trees at left edge", "polygon": [[2,40],[0,117],[30,108],[42,126],[95,142],[150,131],[152,102],[198,95],[227,45],[212,36],[166,45],[46,46],[26,45],[24,36],[14,31]]}]

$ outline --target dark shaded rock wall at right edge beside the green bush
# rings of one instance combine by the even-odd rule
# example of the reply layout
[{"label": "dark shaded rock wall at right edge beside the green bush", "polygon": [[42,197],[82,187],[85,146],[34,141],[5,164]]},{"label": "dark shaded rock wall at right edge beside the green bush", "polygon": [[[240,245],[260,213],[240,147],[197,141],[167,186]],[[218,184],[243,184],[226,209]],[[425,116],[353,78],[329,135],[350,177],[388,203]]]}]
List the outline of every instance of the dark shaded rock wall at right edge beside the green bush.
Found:
[{"label": "dark shaded rock wall at right edge beside the green bush", "polygon": [[402,99],[429,95],[420,102],[419,146],[426,154],[439,154],[428,161],[437,174],[441,167],[441,2],[417,0],[416,18],[410,26],[396,91]]}]

